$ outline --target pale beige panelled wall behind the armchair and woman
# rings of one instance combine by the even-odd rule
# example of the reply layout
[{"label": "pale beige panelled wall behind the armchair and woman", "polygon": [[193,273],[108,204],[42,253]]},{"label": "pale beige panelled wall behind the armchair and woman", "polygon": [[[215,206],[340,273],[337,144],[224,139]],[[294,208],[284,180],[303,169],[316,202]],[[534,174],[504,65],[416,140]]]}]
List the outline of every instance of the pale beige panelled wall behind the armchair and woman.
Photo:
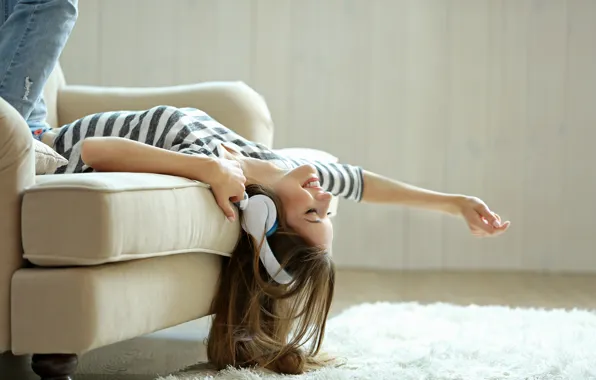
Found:
[{"label": "pale beige panelled wall behind the armchair and woman", "polygon": [[512,220],[476,240],[458,220],[344,202],[340,265],[596,271],[596,1],[82,0],[62,63],[71,83],[244,80],[277,146]]}]

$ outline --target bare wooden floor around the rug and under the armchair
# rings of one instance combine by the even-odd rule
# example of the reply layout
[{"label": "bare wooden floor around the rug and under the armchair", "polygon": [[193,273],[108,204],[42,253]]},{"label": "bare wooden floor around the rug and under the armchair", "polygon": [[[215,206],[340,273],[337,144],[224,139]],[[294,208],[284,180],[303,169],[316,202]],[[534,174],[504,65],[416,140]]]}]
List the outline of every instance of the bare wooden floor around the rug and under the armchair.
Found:
[{"label": "bare wooden floor around the rug and under the armchair", "polygon": [[[461,305],[596,310],[596,275],[339,271],[332,314],[364,302],[449,302]],[[95,350],[74,380],[153,380],[204,360],[206,320]],[[32,380],[28,358],[0,356],[2,380]]]}]

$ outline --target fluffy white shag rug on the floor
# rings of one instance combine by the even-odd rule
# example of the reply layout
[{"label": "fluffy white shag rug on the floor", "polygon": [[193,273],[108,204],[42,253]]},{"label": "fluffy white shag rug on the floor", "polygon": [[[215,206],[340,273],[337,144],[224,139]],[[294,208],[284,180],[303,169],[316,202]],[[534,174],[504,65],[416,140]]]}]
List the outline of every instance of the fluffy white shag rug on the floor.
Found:
[{"label": "fluffy white shag rug on the floor", "polygon": [[325,351],[345,364],[299,376],[189,371],[162,380],[596,379],[596,314],[376,303],[331,319]]}]

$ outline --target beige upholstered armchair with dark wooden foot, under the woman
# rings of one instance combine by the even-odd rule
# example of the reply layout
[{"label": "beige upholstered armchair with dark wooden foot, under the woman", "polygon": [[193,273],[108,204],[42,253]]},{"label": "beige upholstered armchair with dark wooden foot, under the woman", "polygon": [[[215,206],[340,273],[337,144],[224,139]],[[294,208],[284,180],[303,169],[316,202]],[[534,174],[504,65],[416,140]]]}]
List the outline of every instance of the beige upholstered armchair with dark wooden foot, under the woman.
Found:
[{"label": "beige upholstered armchair with dark wooden foot, under the woman", "polygon": [[[45,96],[53,126],[167,104],[200,108],[267,146],[273,139],[265,101],[241,82],[68,86],[58,67]],[[206,185],[155,174],[34,173],[28,127],[0,99],[0,352],[33,354],[41,378],[69,379],[78,355],[209,314],[221,258],[240,229]]]}]

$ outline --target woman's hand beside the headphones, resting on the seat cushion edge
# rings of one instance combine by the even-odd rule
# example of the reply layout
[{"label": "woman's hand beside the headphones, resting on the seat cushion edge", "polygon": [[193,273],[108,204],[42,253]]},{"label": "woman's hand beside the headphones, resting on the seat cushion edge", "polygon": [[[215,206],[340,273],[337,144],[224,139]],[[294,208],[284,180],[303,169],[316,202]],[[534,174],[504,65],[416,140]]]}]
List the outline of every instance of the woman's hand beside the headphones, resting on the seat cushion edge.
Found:
[{"label": "woman's hand beside the headphones, resting on the seat cushion edge", "polygon": [[226,217],[233,222],[236,219],[231,202],[238,202],[244,197],[246,177],[240,163],[236,160],[216,159],[214,169],[207,182],[215,200]]}]

